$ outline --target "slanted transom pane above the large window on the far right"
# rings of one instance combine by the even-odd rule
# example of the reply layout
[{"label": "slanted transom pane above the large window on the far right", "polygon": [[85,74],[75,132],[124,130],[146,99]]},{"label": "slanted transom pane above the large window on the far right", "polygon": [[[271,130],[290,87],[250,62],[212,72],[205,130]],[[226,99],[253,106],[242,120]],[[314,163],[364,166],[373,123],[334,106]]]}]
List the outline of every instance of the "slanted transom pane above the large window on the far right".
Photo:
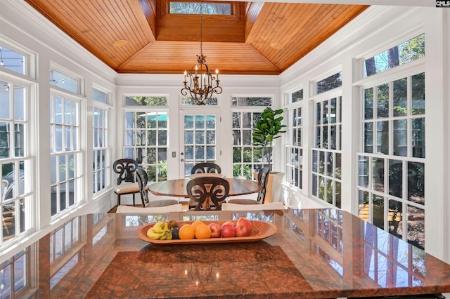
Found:
[{"label": "slanted transom pane above the large window on the far right", "polygon": [[364,77],[425,57],[425,34],[364,60]]}]

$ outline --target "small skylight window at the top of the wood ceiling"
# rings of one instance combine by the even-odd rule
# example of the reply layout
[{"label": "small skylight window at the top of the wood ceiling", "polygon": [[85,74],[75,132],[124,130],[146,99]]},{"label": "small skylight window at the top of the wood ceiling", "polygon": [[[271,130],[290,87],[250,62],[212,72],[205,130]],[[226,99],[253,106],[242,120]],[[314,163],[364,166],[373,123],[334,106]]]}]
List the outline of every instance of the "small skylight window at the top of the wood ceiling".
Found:
[{"label": "small skylight window at the top of the wood ceiling", "polygon": [[[231,15],[230,3],[202,3],[201,6],[204,15]],[[199,15],[200,2],[170,1],[170,13]]]}]

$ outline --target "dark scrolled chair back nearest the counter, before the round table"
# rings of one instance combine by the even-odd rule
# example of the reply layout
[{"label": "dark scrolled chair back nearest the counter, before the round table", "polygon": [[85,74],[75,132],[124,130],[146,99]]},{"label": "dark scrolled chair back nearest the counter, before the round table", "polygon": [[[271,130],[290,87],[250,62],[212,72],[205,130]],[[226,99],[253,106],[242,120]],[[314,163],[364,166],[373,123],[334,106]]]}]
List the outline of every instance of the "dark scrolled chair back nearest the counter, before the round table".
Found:
[{"label": "dark scrolled chair back nearest the counter, before the round table", "polygon": [[188,197],[198,202],[195,210],[199,211],[203,203],[210,198],[216,210],[221,210],[220,201],[224,201],[230,192],[230,183],[224,178],[194,178],[186,186]]}]

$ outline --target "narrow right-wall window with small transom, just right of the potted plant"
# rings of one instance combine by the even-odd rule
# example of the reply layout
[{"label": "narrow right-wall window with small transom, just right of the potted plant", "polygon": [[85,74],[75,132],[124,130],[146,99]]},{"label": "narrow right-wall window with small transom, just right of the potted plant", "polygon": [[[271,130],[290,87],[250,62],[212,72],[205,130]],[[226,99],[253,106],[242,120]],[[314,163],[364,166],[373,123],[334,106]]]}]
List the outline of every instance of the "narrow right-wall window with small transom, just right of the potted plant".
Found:
[{"label": "narrow right-wall window with small transom, just right of the potted plant", "polygon": [[[298,99],[303,90],[291,94]],[[302,146],[302,107],[289,109],[288,145],[286,145],[286,181],[302,189],[303,146]]]}]

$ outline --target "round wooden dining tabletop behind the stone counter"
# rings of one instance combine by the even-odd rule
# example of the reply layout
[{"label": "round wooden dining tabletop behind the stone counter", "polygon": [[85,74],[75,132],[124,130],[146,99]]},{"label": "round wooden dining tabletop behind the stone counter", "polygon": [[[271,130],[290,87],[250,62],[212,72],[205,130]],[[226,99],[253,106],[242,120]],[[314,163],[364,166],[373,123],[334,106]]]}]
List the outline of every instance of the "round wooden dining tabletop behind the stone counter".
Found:
[{"label": "round wooden dining tabletop behind the stone counter", "polygon": [[[243,180],[240,178],[225,178],[230,183],[229,196],[245,195],[262,190],[255,180]],[[148,186],[148,191],[155,195],[165,195],[169,197],[188,197],[186,185],[190,178],[180,178],[176,180],[163,180]]]}]

